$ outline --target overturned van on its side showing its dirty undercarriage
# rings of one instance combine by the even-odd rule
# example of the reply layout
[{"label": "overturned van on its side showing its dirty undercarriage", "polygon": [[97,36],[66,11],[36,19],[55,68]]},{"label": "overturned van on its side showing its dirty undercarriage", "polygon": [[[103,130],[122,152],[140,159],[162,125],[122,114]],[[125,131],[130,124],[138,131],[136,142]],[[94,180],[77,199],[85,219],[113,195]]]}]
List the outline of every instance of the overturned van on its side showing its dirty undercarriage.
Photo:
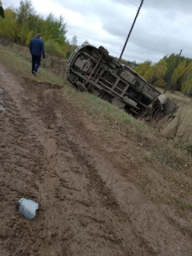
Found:
[{"label": "overturned van on its side showing its dirty undercarriage", "polygon": [[79,90],[93,93],[138,117],[174,117],[178,109],[165,94],[111,57],[102,46],[79,46],[67,63],[66,76]]}]

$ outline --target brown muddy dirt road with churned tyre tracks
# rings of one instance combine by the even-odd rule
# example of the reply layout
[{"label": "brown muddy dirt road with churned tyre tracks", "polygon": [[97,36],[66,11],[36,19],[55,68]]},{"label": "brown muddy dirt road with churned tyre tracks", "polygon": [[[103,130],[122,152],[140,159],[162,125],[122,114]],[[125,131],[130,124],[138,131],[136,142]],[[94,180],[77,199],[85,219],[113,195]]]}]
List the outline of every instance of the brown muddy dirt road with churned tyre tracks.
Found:
[{"label": "brown muddy dirt road with churned tyre tracks", "polygon": [[[0,255],[192,255],[174,183],[62,89],[0,65]],[[16,202],[40,204],[33,221]]]}]

